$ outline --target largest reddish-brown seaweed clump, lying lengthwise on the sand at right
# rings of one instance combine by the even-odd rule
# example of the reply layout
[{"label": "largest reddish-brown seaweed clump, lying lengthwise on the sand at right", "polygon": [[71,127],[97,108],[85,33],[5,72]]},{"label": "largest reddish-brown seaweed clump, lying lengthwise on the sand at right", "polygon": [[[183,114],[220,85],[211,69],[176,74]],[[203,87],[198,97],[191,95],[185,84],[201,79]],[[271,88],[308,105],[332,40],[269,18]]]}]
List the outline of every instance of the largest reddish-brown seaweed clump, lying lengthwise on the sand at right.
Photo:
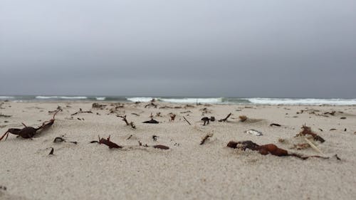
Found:
[{"label": "largest reddish-brown seaweed clump, lying lengthwise on the sand at right", "polygon": [[241,142],[234,142],[230,141],[227,144],[227,147],[234,148],[234,149],[251,149],[253,151],[258,151],[258,153],[266,155],[266,154],[272,154],[278,157],[287,157],[287,156],[292,156],[292,157],[298,157],[300,159],[308,159],[310,157],[318,157],[318,158],[323,158],[323,159],[329,159],[329,157],[321,157],[321,156],[305,156],[301,154],[295,154],[295,153],[289,153],[286,149],[281,149],[278,148],[275,144],[264,144],[264,145],[258,145],[251,140],[246,140],[246,141],[241,141]]}]

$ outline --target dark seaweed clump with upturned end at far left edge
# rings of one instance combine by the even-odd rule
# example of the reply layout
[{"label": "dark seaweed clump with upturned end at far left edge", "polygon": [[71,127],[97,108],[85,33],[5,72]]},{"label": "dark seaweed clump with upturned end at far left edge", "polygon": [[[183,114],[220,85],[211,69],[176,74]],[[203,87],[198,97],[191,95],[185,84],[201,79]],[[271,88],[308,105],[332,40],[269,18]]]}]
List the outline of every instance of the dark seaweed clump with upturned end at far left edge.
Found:
[{"label": "dark seaweed clump with upturned end at far left edge", "polygon": [[14,134],[14,135],[18,135],[18,137],[22,137],[25,139],[28,138],[32,138],[34,135],[36,135],[38,130],[44,130],[48,127],[51,127],[54,123],[54,117],[56,116],[56,114],[59,112],[60,110],[58,110],[57,112],[55,112],[53,114],[53,117],[51,120],[43,122],[41,126],[35,128],[35,127],[28,127],[25,124],[22,123],[22,125],[24,126],[22,129],[18,129],[18,128],[10,128],[9,130],[7,130],[4,135],[2,135],[0,137],[0,141],[5,137],[5,140],[7,139],[7,137],[9,136],[9,133]]}]

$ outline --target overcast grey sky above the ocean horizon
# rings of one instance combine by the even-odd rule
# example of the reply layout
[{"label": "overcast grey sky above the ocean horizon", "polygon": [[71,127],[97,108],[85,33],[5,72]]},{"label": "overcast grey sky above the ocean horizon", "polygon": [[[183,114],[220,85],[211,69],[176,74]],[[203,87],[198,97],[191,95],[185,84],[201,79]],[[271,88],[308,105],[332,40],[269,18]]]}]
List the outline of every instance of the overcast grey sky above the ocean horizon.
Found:
[{"label": "overcast grey sky above the ocean horizon", "polygon": [[356,1],[1,0],[0,95],[356,98]]}]

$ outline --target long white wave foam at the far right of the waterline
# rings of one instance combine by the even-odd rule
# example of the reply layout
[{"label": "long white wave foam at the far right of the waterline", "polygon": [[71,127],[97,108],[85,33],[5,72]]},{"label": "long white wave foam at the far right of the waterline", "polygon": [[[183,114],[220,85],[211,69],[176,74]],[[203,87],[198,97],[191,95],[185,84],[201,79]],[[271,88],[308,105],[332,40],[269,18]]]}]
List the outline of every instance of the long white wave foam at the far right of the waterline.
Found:
[{"label": "long white wave foam at the far right of the waterline", "polygon": [[253,104],[268,105],[356,105],[356,99],[246,98]]}]

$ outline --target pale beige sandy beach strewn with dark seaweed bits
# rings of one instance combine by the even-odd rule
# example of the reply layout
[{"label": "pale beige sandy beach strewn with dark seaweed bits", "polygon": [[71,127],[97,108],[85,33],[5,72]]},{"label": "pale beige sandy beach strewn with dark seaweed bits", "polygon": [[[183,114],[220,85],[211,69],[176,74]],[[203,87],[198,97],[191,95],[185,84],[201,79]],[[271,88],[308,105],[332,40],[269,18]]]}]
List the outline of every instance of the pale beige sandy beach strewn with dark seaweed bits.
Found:
[{"label": "pale beige sandy beach strewn with dark seaweed bits", "polygon": [[[355,199],[355,106],[184,107],[156,102],[155,108],[145,107],[144,102],[125,103],[123,107],[100,102],[107,105],[100,110],[92,108],[92,103],[0,102],[1,114],[11,115],[0,117],[1,133],[11,127],[21,128],[21,122],[37,127],[51,119],[48,111],[63,108],[54,125],[38,132],[33,140],[10,134],[0,141],[0,186],[6,186],[6,190],[0,189],[0,199]],[[205,107],[211,113],[204,116],[216,120],[229,112],[232,115],[227,122],[203,126],[201,109]],[[93,113],[70,115],[80,108]],[[300,110],[308,111],[297,114]],[[323,116],[331,111],[337,112]],[[162,117],[155,117],[159,124],[142,123],[150,120],[151,112],[161,113]],[[170,112],[177,115],[174,121],[169,121]],[[117,114],[127,115],[137,128],[125,125]],[[239,115],[246,115],[248,120],[239,122]],[[271,123],[282,126],[271,127]],[[330,159],[264,156],[226,147],[230,140],[252,140],[299,154],[320,155],[312,148],[293,149],[293,144],[303,141],[294,136],[304,124],[326,140],[315,144]],[[336,130],[330,131],[333,128]],[[263,135],[244,132],[249,129]],[[213,137],[199,145],[201,138],[210,133]],[[124,148],[90,144],[98,140],[98,135],[110,135],[112,142]],[[152,135],[158,136],[157,141]],[[55,137],[78,144],[55,144]],[[140,147],[138,141],[150,146],[163,144],[169,149]],[[51,156],[50,147],[54,149]]]}]

